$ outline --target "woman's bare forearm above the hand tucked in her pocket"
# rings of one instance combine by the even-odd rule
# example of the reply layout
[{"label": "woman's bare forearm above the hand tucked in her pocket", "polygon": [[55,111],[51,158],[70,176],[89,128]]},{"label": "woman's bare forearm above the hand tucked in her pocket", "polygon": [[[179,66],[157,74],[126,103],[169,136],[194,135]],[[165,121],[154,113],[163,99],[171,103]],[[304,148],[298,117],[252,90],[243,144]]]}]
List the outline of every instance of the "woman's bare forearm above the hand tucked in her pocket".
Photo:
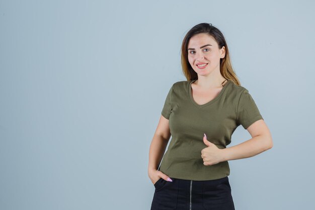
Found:
[{"label": "woman's bare forearm above the hand tucked in her pocket", "polygon": [[149,149],[148,170],[156,170],[163,158],[169,139],[165,139],[160,135],[154,134]]}]

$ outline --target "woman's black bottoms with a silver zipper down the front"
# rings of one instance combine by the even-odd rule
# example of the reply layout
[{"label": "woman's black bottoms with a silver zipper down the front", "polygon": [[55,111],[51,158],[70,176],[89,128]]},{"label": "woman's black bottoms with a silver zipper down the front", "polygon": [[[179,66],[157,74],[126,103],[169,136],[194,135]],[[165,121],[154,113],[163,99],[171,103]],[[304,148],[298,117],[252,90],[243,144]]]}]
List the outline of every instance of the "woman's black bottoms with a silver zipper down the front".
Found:
[{"label": "woman's black bottoms with a silver zipper down the front", "polygon": [[234,210],[228,177],[195,181],[170,177],[154,184],[151,210]]}]

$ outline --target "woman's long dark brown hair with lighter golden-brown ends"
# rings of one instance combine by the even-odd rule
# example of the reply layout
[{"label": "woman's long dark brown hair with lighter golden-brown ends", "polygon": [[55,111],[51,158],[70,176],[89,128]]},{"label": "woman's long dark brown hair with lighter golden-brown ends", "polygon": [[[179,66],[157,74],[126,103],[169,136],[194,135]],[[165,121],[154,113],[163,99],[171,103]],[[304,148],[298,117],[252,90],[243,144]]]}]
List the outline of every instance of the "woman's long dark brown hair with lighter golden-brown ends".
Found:
[{"label": "woman's long dark brown hair with lighter golden-brown ends", "polygon": [[225,47],[225,56],[224,58],[220,58],[220,73],[225,79],[231,80],[233,83],[240,86],[241,83],[232,68],[232,63],[229,57],[229,52],[228,52],[225,38],[223,34],[221,33],[221,31],[217,29],[216,27],[214,27],[211,23],[200,23],[192,27],[192,29],[190,29],[187,32],[183,40],[182,49],[181,49],[181,63],[182,63],[183,73],[186,79],[188,81],[198,79],[197,73],[194,71],[194,69],[192,68],[192,66],[190,65],[188,61],[188,43],[192,36],[199,33],[206,33],[212,36],[217,42],[219,49],[221,49],[223,46]]}]

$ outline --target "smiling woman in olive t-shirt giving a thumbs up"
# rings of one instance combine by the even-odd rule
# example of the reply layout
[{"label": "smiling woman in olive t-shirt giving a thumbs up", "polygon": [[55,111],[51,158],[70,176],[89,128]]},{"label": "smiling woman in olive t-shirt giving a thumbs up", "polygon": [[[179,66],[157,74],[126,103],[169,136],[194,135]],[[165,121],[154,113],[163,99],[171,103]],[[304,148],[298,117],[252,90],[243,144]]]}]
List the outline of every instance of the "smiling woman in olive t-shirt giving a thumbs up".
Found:
[{"label": "smiling woman in olive t-shirt giving a thumbs up", "polygon": [[[233,72],[219,29],[194,26],[181,53],[187,81],[172,85],[149,149],[148,176],[155,187],[151,210],[231,210],[227,161],[271,149],[271,133]],[[252,138],[226,148],[239,125]]]}]

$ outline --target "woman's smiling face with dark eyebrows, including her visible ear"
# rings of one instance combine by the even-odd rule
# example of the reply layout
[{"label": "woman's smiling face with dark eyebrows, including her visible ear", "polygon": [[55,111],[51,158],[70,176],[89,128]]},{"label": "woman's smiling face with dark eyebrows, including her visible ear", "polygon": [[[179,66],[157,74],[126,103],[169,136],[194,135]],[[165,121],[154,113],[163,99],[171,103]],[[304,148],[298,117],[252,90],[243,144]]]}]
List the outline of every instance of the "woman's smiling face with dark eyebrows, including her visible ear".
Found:
[{"label": "woman's smiling face with dark eyebrows, including her visible ear", "polygon": [[220,58],[225,56],[225,47],[219,49],[212,36],[206,33],[192,36],[187,50],[188,61],[198,76],[220,72]]}]

